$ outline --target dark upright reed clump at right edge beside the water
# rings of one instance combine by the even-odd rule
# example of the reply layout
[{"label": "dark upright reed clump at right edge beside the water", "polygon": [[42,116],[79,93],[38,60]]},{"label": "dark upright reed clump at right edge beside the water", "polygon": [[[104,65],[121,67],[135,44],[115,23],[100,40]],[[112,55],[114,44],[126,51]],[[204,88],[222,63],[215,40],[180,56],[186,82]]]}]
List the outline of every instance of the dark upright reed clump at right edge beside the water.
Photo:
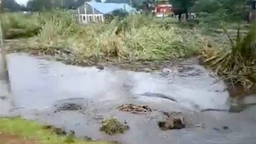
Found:
[{"label": "dark upright reed clump at right edge beside the water", "polygon": [[[227,31],[224,29],[225,33]],[[228,35],[230,46],[225,49],[207,49],[204,62],[220,76],[225,77],[228,84],[244,86],[246,89],[256,85],[256,23],[252,24],[248,33],[241,35],[237,30],[234,40]]]}]

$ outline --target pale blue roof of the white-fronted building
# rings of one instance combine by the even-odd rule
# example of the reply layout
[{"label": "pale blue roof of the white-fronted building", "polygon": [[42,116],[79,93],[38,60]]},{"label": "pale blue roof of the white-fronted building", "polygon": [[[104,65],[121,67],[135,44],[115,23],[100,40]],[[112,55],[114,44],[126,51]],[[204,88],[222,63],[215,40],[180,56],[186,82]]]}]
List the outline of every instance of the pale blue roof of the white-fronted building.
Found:
[{"label": "pale blue roof of the white-fronted building", "polygon": [[132,12],[135,11],[134,8],[129,6],[129,4],[125,3],[97,3],[97,2],[86,2],[86,4],[89,4],[92,6],[92,8],[95,8],[100,13],[106,14],[111,13],[114,10],[125,10],[126,12]]}]

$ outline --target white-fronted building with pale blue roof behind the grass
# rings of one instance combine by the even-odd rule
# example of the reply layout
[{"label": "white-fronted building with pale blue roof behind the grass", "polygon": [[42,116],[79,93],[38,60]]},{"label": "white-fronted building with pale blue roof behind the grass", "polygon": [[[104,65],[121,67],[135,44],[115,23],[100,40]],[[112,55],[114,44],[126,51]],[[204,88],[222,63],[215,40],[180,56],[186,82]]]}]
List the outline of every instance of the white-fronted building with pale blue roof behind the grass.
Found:
[{"label": "white-fronted building with pale blue roof behind the grass", "polygon": [[135,11],[134,8],[126,3],[85,2],[77,8],[77,14],[74,15],[74,19],[82,24],[103,22],[106,19],[106,15],[111,14],[115,10],[124,10],[128,13]]}]

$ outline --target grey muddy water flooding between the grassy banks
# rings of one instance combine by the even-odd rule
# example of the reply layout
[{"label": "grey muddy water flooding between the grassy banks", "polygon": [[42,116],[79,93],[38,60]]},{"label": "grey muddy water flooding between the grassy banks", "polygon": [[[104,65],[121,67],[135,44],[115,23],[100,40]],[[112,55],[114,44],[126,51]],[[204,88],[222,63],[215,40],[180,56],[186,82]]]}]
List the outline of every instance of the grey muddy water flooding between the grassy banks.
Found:
[{"label": "grey muddy water flooding between the grassy banks", "polygon": [[[225,84],[194,60],[154,73],[118,67],[75,67],[26,54],[10,54],[8,68],[15,108],[10,114],[74,131],[78,138],[116,140],[125,144],[256,142],[256,107],[229,113]],[[252,98],[255,100],[254,98]],[[252,101],[252,100],[249,100]],[[136,115],[118,111],[121,104],[157,109]],[[204,111],[222,109],[223,111]],[[186,128],[161,131],[160,111],[182,111]],[[127,121],[124,134],[99,131],[104,118]]]}]

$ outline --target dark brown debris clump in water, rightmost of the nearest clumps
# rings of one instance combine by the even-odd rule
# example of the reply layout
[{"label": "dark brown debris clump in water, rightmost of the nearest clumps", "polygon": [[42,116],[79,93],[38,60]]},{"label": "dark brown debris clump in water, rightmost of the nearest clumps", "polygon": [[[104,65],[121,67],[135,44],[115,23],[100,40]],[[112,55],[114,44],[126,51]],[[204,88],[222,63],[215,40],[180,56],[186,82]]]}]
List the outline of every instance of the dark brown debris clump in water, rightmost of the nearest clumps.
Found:
[{"label": "dark brown debris clump in water, rightmost of the nearest clumps", "polygon": [[158,126],[163,130],[168,129],[183,129],[185,128],[184,118],[181,116],[180,112],[167,113],[164,112],[164,115],[167,116],[165,121],[158,122]]}]

